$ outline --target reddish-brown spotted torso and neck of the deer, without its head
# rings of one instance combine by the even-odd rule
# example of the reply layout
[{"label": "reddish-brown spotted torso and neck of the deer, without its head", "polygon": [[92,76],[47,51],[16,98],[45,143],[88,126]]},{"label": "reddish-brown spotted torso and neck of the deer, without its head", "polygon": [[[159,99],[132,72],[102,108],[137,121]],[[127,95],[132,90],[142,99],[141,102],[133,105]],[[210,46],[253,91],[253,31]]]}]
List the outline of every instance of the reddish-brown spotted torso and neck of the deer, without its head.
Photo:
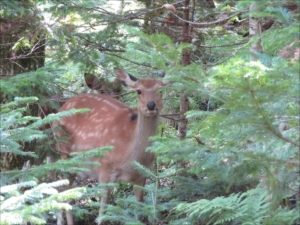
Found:
[{"label": "reddish-brown spotted torso and neck of the deer, without its head", "polygon": [[[130,162],[138,161],[147,167],[152,164],[153,155],[144,150],[150,145],[149,136],[156,133],[157,117],[143,118],[137,109],[131,109],[108,96],[96,94],[78,95],[70,99],[61,110],[71,108],[89,108],[91,112],[60,121],[71,140],[70,145],[61,145],[59,151],[69,154],[114,146],[114,150],[107,152],[104,158],[96,159],[101,163],[100,181],[134,182],[137,174]],[[108,170],[110,176],[106,175]]]}]

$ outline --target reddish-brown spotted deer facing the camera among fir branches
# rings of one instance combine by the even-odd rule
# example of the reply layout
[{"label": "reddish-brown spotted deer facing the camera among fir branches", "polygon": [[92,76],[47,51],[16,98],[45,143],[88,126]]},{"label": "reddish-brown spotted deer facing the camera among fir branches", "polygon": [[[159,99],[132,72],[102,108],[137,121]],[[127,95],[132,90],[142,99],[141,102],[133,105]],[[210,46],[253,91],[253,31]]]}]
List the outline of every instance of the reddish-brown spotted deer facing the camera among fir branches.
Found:
[{"label": "reddish-brown spotted deer facing the camera among fir branches", "polygon": [[[138,79],[118,68],[114,68],[114,72],[123,86],[136,92],[137,108],[130,108],[107,95],[80,94],[72,97],[60,111],[89,108],[90,112],[75,114],[53,124],[60,124],[64,129],[64,134],[56,132],[56,136],[65,133],[69,136],[68,144],[57,143],[57,149],[65,158],[72,152],[113,146],[114,149],[106,152],[103,158],[93,159],[100,166],[88,175],[96,176],[100,183],[124,181],[144,186],[146,177],[132,166],[132,162],[136,161],[149,169],[153,166],[154,154],[147,152],[146,148],[151,145],[149,137],[157,132],[159,113],[163,108],[160,89],[167,82],[153,78]],[[143,201],[143,194],[141,188],[134,188],[138,201]],[[101,197],[99,215],[103,214],[110,195],[111,190],[106,188],[106,194]],[[67,224],[74,224],[71,212],[67,211],[66,214]]]}]

